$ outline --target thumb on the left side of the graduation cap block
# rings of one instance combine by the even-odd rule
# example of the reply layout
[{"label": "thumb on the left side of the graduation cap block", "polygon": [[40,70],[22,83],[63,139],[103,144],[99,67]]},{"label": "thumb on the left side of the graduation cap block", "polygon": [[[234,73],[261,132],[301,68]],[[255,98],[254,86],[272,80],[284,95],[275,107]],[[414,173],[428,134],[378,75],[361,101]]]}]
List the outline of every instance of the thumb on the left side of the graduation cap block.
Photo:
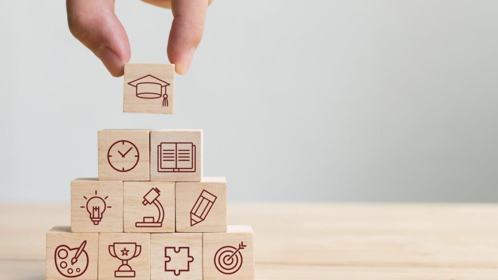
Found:
[{"label": "thumb on the left side of the graduation cap block", "polygon": [[131,50],[114,13],[114,0],[67,0],[66,8],[71,33],[102,60],[113,76],[123,76]]}]

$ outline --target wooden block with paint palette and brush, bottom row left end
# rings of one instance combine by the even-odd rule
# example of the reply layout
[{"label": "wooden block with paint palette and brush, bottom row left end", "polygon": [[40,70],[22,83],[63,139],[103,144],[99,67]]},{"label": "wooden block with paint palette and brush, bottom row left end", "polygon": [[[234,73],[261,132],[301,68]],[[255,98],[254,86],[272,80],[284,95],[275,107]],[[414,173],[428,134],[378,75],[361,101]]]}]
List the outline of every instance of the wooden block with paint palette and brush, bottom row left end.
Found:
[{"label": "wooden block with paint palette and brush, bottom row left end", "polygon": [[98,233],[72,233],[70,227],[54,227],[47,232],[46,244],[47,280],[97,280]]}]

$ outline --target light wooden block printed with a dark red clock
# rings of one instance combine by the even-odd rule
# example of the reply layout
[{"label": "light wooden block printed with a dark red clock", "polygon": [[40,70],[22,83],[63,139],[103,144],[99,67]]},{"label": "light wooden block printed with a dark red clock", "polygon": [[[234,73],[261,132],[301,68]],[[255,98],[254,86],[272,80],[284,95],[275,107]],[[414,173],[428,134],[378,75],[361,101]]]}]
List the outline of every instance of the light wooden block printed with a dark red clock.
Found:
[{"label": "light wooden block printed with a dark red clock", "polygon": [[148,130],[101,130],[98,139],[99,180],[149,180]]}]

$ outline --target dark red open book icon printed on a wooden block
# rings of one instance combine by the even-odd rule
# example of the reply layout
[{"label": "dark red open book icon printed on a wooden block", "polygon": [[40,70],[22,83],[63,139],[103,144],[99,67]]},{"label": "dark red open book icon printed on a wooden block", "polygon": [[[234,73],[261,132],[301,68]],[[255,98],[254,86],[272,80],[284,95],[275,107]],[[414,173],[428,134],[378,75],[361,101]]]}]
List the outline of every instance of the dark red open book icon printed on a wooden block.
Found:
[{"label": "dark red open book icon printed on a wooden block", "polygon": [[157,172],[195,172],[192,142],[161,142],[157,145]]}]

